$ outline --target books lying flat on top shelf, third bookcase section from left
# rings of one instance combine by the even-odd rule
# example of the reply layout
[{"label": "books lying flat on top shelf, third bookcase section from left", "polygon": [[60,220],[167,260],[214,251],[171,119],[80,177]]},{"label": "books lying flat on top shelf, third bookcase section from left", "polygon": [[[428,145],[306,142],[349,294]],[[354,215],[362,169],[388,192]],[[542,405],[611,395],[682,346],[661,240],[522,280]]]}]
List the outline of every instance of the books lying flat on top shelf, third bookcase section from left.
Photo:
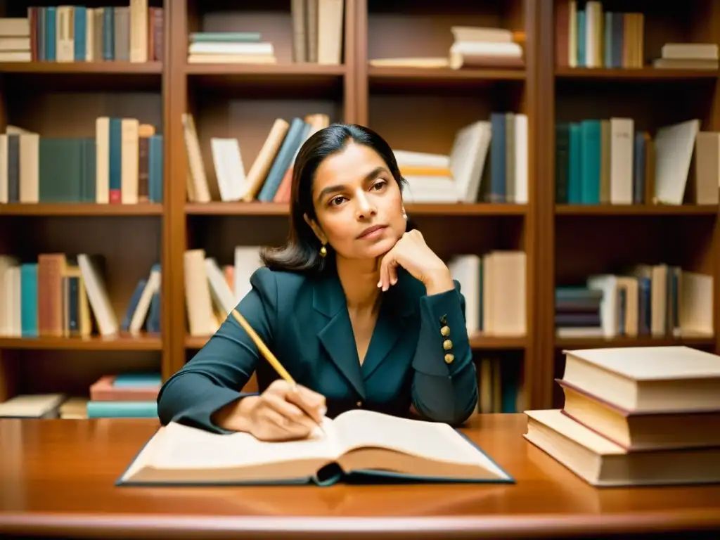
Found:
[{"label": "books lying flat on top shelf, third bookcase section from left", "polygon": [[445,56],[372,58],[370,66],[387,68],[524,68],[520,32],[505,28],[452,26],[453,42]]}]

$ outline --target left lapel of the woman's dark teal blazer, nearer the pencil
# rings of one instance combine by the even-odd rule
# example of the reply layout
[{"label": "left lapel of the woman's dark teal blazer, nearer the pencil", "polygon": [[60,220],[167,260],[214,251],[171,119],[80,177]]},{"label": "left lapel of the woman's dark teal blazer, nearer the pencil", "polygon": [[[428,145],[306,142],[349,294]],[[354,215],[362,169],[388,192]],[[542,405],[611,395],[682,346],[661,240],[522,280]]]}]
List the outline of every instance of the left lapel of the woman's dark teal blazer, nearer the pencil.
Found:
[{"label": "left lapel of the woman's dark teal blazer, nearer the pencil", "polygon": [[365,387],[355,335],[348,315],[345,293],[337,276],[323,276],[315,282],[312,307],[322,313],[328,322],[318,332],[318,339],[341,373],[365,399]]}]

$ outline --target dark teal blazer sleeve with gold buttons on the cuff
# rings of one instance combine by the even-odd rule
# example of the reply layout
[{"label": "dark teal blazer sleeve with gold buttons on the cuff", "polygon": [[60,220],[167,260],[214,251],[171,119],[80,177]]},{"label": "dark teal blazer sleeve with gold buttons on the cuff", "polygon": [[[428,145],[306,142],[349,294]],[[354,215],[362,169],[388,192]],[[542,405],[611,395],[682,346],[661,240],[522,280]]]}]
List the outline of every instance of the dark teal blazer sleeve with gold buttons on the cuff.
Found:
[{"label": "dark teal blazer sleeve with gold buttons on the cuff", "polygon": [[[420,297],[412,396],[413,405],[423,418],[459,424],[472,415],[478,392],[465,325],[465,298],[459,282],[454,280],[454,284],[455,289]],[[443,331],[449,334],[444,336]],[[447,354],[452,355],[448,357],[449,363]]]}]

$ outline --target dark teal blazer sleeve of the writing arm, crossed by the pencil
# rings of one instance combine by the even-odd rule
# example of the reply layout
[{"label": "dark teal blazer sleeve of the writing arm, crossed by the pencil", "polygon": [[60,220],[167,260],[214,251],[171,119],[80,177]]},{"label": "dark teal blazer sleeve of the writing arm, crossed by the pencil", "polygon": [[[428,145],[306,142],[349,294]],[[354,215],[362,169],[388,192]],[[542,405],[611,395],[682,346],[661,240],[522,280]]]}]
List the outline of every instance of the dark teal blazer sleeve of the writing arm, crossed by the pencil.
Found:
[{"label": "dark teal blazer sleeve of the writing arm, crossed by the pencil", "polygon": [[[251,276],[252,288],[237,310],[271,346],[274,337],[277,284],[267,268]],[[248,395],[240,392],[259,359],[252,339],[230,315],[202,349],[168,379],[158,395],[158,415],[166,425],[173,421],[215,433],[227,433],[211,421],[215,411]]]}]

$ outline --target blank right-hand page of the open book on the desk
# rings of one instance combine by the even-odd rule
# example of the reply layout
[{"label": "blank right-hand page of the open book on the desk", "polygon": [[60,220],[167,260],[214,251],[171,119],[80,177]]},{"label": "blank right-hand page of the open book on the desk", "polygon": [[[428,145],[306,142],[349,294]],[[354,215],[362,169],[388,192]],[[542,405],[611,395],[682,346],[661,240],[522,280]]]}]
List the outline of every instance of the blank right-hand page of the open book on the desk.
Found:
[{"label": "blank right-hand page of the open book on the desk", "polygon": [[444,423],[410,420],[351,410],[334,420],[343,453],[357,448],[382,448],[399,451],[436,462],[477,465],[505,477],[490,458]]}]

